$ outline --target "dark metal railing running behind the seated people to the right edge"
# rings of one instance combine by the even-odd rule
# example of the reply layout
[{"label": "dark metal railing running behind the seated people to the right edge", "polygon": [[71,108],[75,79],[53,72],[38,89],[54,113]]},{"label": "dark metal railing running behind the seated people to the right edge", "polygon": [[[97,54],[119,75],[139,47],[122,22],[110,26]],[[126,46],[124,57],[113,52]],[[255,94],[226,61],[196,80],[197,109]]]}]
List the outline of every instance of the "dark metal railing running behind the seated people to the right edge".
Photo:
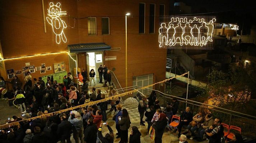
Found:
[{"label": "dark metal railing running behind the seated people to the right edge", "polygon": [[[143,93],[144,95],[148,96],[152,93],[153,89],[144,88],[139,86],[132,86],[125,89],[117,89],[118,91],[124,91],[128,92],[131,90],[138,90],[139,92]],[[159,105],[161,107],[167,107],[167,103],[172,103],[172,99],[175,96],[164,94],[162,92],[159,92],[158,90],[155,90],[157,93],[157,99],[159,100]],[[122,100],[129,97],[135,96],[137,93],[129,94],[125,97],[122,97]],[[186,107],[191,108],[191,112],[193,112],[193,115],[197,114],[199,110],[204,110],[205,112],[211,112],[214,118],[220,118],[222,119],[222,122],[228,125],[235,125],[237,127],[240,127],[242,130],[242,135],[247,138],[256,137],[256,117],[252,115],[243,114],[240,112],[215,107],[213,105],[208,105],[200,102],[196,102],[193,100],[186,100],[184,98],[175,97],[179,101],[179,107],[178,112],[176,114],[181,115],[183,111],[185,111]]]}]

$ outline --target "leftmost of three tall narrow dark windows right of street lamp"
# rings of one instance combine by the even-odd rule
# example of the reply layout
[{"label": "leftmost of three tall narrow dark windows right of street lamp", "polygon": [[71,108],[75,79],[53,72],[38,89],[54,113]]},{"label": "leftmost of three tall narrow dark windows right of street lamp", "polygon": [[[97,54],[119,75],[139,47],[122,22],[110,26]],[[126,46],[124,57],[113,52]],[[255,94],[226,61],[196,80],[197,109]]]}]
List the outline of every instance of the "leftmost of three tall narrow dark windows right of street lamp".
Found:
[{"label": "leftmost of three tall narrow dark windows right of street lamp", "polygon": [[145,4],[139,4],[139,33],[145,32]]}]

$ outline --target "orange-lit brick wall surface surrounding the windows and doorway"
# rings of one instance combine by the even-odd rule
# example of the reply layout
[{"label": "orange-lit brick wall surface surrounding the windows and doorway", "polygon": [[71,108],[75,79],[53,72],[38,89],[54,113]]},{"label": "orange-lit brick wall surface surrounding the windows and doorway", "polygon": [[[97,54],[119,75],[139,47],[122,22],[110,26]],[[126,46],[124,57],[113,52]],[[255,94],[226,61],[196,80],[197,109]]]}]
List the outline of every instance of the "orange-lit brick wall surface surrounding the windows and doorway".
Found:
[{"label": "orange-lit brick wall surface surrounding the windows and doorway", "polygon": [[[45,14],[49,1],[45,1]],[[56,1],[54,1],[56,3]],[[145,34],[139,33],[139,3],[146,3]],[[149,34],[149,4],[155,4],[155,33]],[[166,49],[158,48],[159,4],[165,4],[168,15],[168,0],[62,0],[62,10],[68,11],[69,17],[64,20],[68,25],[66,37],[68,43],[55,43],[51,26],[46,21],[44,32],[41,1],[0,1],[0,33],[4,58],[34,55],[40,53],[54,53],[67,51],[67,45],[78,43],[104,42],[111,47],[121,47],[119,51],[106,51],[104,56],[117,56],[117,60],[104,61],[109,69],[116,68],[115,74],[125,86],[125,14],[127,17],[127,55],[128,55],[128,85],[132,85],[132,77],[154,74],[155,82],[165,79]],[[87,17],[97,17],[97,35],[88,35]],[[110,17],[110,35],[101,34],[101,18]],[[86,68],[86,55],[78,54],[78,67]],[[35,59],[35,60],[34,60]],[[6,62],[6,69],[21,69],[26,62],[35,66],[46,63],[65,61],[68,71],[68,56],[54,55],[45,58],[25,58]],[[38,71],[37,71],[38,72]],[[46,74],[50,72],[46,72]],[[32,74],[39,77],[40,73]]]}]

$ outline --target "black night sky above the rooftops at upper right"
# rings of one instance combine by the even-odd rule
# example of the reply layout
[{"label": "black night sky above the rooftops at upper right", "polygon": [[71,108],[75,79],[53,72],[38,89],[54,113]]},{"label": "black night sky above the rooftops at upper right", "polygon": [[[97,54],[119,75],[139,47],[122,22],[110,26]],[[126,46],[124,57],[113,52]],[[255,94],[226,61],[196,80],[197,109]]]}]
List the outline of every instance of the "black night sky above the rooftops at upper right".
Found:
[{"label": "black night sky above the rooftops at upper right", "polygon": [[252,25],[256,25],[255,0],[175,0],[191,6],[192,14],[217,16],[217,23],[237,23],[243,25],[243,34],[250,34]]}]

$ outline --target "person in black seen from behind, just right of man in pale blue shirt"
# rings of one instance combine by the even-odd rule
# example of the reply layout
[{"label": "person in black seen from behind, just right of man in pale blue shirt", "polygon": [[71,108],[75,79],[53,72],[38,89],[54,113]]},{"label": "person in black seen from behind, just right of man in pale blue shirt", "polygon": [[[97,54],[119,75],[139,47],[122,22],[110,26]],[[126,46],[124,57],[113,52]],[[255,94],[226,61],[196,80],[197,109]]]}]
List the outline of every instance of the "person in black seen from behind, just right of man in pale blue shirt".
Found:
[{"label": "person in black seen from behind, just right of man in pale blue shirt", "polygon": [[93,124],[92,119],[88,119],[87,128],[84,130],[84,141],[86,143],[96,143],[98,128],[96,124]]}]

